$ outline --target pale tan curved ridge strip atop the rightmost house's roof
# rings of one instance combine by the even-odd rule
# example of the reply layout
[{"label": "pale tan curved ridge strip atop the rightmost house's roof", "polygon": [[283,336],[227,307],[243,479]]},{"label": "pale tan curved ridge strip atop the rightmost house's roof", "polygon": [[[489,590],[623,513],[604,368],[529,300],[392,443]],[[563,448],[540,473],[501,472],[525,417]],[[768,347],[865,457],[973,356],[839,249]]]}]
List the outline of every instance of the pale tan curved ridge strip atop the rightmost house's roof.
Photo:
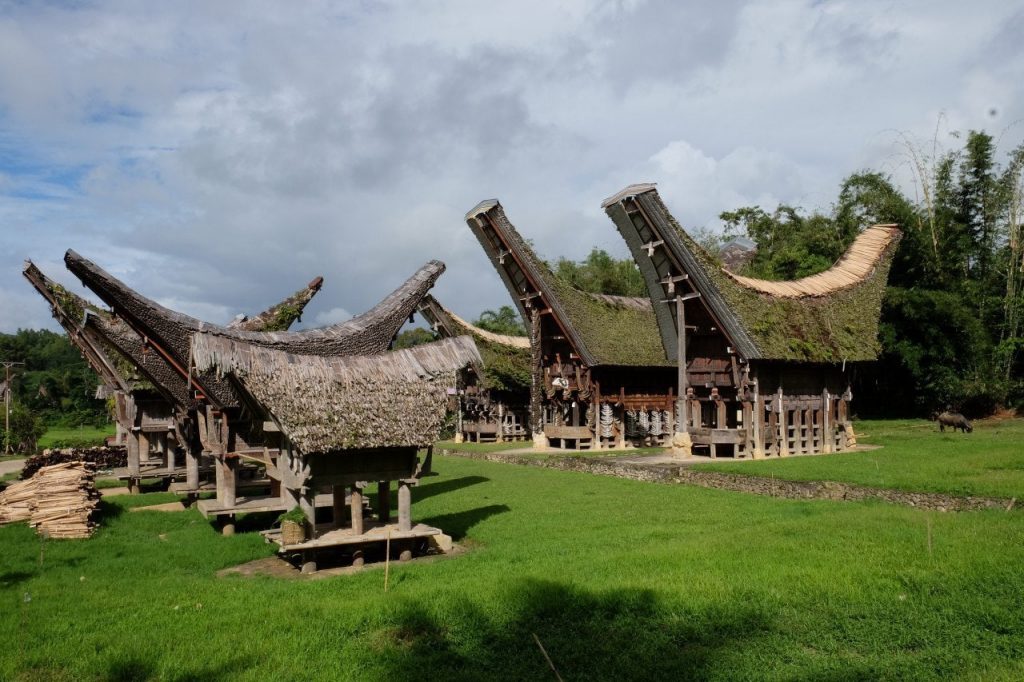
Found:
[{"label": "pale tan curved ridge strip atop the rightmost house's roof", "polygon": [[874,271],[889,245],[899,239],[899,235],[900,231],[894,224],[868,227],[854,240],[835,265],[823,272],[800,280],[773,282],[745,278],[724,267],[722,271],[744,287],[769,296],[778,298],[827,296],[866,280]]}]

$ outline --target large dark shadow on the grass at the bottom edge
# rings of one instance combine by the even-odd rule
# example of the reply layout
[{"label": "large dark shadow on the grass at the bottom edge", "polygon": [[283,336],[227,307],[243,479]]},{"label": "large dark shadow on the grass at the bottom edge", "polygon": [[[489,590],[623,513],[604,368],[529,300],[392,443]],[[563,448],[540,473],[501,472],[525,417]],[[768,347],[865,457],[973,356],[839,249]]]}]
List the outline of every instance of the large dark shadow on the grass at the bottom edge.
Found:
[{"label": "large dark shadow on the grass at the bottom edge", "polygon": [[[650,590],[594,592],[553,581],[511,588],[499,615],[471,602],[437,612],[422,602],[399,607],[371,637],[387,679],[728,678],[725,656],[769,630],[755,606],[678,612]],[[535,639],[536,637],[536,639]]]}]

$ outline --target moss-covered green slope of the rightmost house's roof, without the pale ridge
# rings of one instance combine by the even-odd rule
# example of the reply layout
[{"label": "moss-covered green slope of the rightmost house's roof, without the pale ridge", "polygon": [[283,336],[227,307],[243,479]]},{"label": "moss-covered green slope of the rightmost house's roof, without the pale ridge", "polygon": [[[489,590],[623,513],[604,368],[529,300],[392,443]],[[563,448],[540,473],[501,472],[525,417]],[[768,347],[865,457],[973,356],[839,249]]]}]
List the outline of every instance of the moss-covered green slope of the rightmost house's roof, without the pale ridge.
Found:
[{"label": "moss-covered green slope of the rightmost house's roof, without the pale ridge", "polygon": [[[620,230],[629,229],[627,220],[649,221],[646,227],[665,241],[677,262],[684,264],[700,300],[741,354],[756,359],[807,363],[878,358],[882,297],[900,238],[895,227],[884,227],[889,230],[888,240],[874,254],[873,263],[863,268],[860,279],[847,286],[822,289],[826,293],[821,295],[778,296],[762,291],[768,287],[744,285],[725,271],[682,229],[653,186],[639,186],[635,195],[620,193],[616,198],[606,208]],[[616,208],[617,202],[626,199],[635,199],[640,209],[629,218],[624,218],[625,213]],[[637,235],[624,237],[636,256]],[[648,288],[652,297],[664,296],[660,285],[651,287],[649,279]]]}]

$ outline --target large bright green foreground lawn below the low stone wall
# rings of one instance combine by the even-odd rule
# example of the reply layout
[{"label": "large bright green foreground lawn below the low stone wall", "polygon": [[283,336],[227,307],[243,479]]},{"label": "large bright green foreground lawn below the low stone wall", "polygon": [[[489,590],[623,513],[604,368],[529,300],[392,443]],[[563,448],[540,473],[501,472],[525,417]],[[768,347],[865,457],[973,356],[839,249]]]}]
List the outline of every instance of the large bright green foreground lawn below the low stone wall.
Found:
[{"label": "large bright green foreground lawn below the low stone wall", "polygon": [[414,519],[465,554],[319,581],[198,512],[89,541],[0,527],[0,679],[1024,677],[1024,516],[787,501],[435,458]]}]

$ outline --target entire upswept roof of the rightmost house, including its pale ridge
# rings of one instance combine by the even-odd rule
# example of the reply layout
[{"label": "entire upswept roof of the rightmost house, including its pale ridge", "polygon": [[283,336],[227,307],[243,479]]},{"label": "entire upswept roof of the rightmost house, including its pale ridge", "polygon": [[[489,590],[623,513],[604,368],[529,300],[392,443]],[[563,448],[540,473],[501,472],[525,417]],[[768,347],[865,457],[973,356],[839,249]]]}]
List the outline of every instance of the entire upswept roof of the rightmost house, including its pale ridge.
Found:
[{"label": "entire upswept roof of the rightmost house, including its pale ridge", "polygon": [[[687,235],[653,184],[630,185],[602,206],[640,266],[652,300],[667,297],[666,278],[685,275],[730,344],[748,359],[809,363],[872,360],[879,316],[900,231],[869,227],[836,265],[794,282],[742,278]],[[666,352],[675,357],[675,306],[657,306]]]}]

